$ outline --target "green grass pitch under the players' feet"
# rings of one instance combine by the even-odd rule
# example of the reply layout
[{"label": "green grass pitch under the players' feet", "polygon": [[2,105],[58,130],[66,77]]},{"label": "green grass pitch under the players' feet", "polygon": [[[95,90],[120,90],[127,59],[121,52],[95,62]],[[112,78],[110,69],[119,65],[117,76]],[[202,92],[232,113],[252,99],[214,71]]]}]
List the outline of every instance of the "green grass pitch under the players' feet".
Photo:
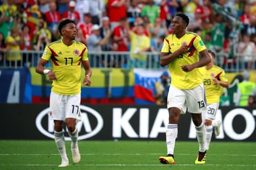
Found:
[{"label": "green grass pitch under the players' feet", "polygon": [[197,141],[176,141],[176,164],[160,164],[165,141],[79,141],[81,161],[58,168],[61,159],[54,140],[0,140],[0,169],[256,169],[256,143],[212,142],[206,164],[194,164]]}]

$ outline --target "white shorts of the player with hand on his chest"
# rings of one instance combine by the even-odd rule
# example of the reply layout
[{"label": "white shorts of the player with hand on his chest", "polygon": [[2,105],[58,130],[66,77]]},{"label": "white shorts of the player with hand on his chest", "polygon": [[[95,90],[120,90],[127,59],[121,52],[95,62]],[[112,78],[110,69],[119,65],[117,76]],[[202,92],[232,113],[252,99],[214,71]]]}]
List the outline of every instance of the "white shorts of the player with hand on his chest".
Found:
[{"label": "white shorts of the player with hand on his chest", "polygon": [[181,90],[170,85],[167,97],[167,109],[177,107],[181,114],[188,112],[191,114],[200,114],[207,109],[205,89],[203,83],[194,89]]}]

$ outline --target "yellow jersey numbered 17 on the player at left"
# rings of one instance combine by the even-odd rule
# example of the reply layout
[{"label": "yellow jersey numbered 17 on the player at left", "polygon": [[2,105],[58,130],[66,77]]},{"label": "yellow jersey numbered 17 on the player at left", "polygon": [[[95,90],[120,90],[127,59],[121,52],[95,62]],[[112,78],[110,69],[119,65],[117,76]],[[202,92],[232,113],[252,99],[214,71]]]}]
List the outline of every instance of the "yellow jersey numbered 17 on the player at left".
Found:
[{"label": "yellow jersey numbered 17 on the player at left", "polygon": [[88,59],[88,49],[78,41],[65,45],[62,40],[45,47],[42,58],[51,60],[52,71],[58,81],[53,81],[52,91],[57,94],[73,95],[81,93],[81,61]]}]

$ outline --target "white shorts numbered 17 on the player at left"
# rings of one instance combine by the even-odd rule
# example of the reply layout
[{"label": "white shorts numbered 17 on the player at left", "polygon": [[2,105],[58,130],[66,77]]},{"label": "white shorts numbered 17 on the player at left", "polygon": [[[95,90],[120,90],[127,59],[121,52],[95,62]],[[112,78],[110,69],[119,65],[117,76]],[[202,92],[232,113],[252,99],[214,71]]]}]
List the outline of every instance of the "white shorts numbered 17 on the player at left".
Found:
[{"label": "white shorts numbered 17 on the player at left", "polygon": [[80,110],[81,94],[66,96],[51,92],[50,94],[50,119],[63,120],[75,118],[81,120]]}]

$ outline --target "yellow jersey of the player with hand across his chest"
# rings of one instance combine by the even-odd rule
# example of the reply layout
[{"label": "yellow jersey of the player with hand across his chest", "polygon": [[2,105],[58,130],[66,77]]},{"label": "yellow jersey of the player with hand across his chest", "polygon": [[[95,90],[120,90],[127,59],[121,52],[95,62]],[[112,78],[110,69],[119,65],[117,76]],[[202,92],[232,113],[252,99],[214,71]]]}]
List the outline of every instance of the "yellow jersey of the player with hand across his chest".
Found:
[{"label": "yellow jersey of the player with hand across his chest", "polygon": [[206,50],[206,47],[199,35],[186,31],[181,38],[177,38],[175,34],[165,37],[161,52],[174,53],[181,45],[188,45],[187,53],[183,53],[169,63],[169,71],[171,74],[171,85],[178,89],[193,89],[203,83],[201,73],[198,68],[192,71],[183,71],[181,66],[192,65],[199,61],[199,52]]}]

